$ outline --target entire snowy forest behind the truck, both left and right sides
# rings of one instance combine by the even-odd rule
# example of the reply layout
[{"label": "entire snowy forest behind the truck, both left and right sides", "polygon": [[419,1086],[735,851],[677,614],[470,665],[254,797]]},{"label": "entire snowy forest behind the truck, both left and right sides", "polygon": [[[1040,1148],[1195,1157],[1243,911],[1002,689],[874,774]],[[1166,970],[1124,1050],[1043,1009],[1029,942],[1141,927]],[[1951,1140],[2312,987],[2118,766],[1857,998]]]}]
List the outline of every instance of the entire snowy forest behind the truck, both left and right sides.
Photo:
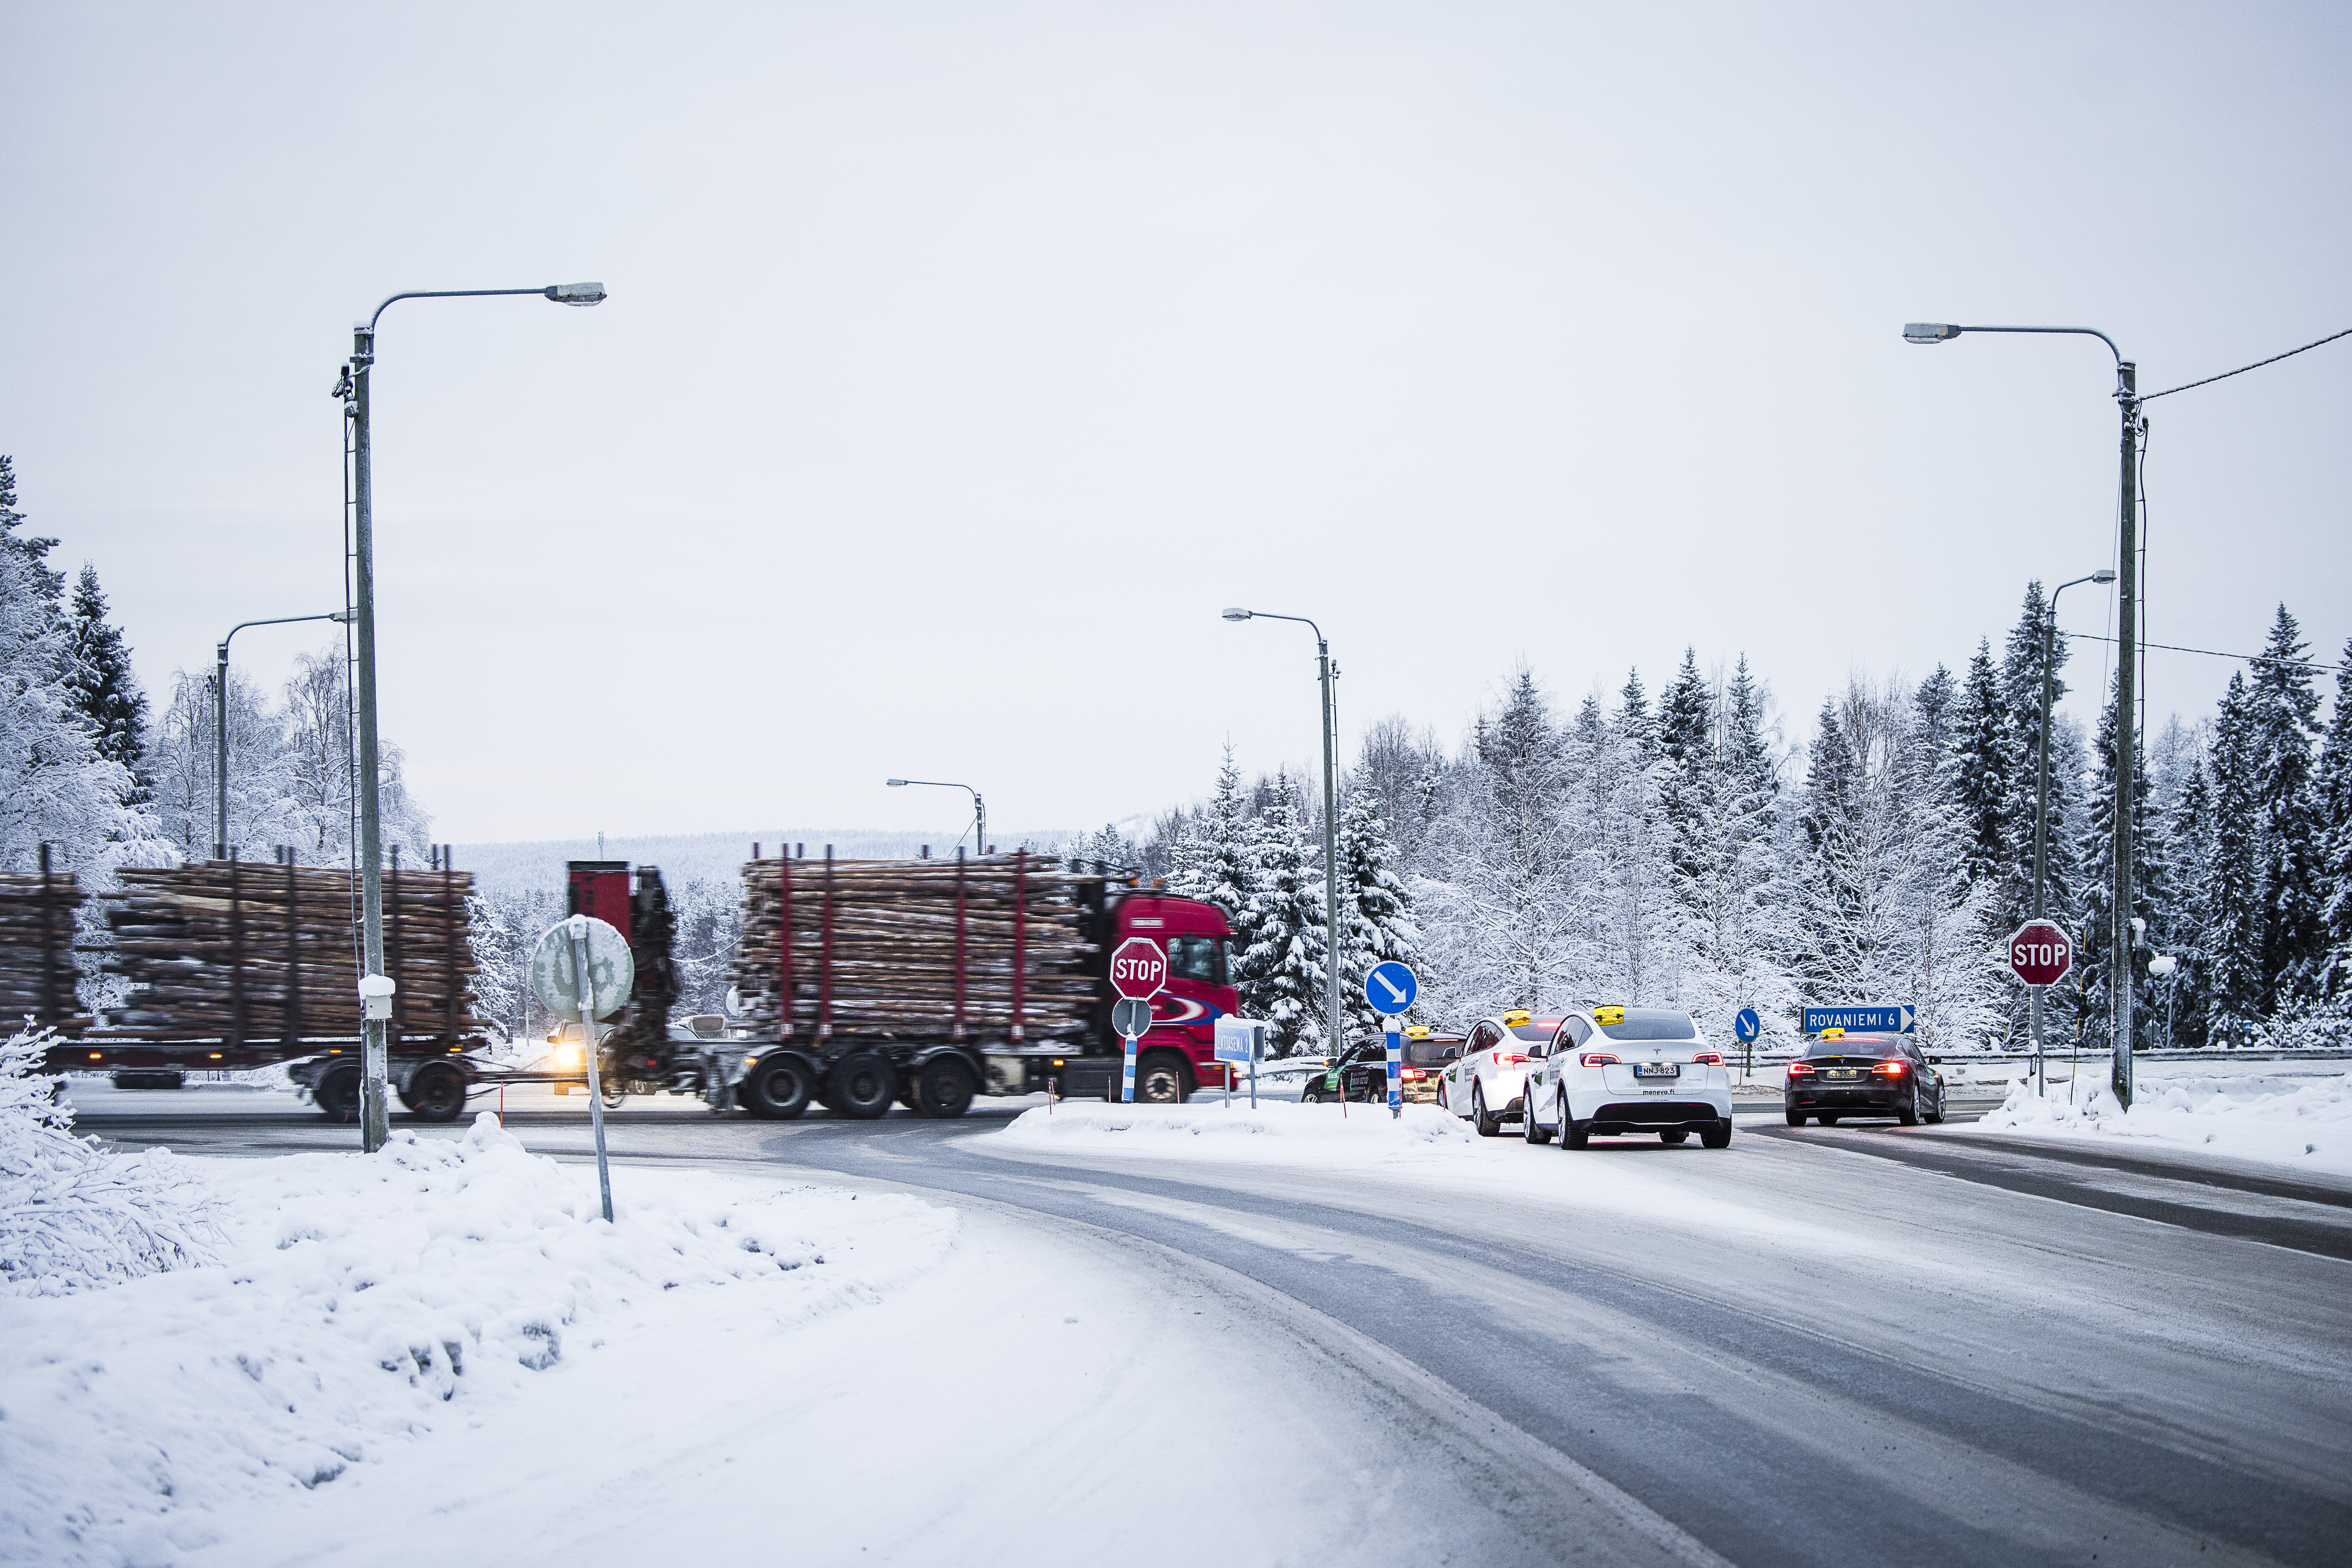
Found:
[{"label": "entire snowy forest behind the truck, both left and right sides", "polygon": [[[176,675],[160,717],[108,623],[92,567],[68,583],[56,541],[24,531],[0,458],[0,870],[49,844],[106,886],[113,867],[209,853],[214,689]],[[2034,745],[2046,602],[1955,672],[1853,679],[1790,741],[1745,658],[1696,654],[1651,696],[1639,672],[1562,705],[1531,670],[1461,743],[1376,724],[1341,785],[1343,994],[1378,959],[1423,973],[1421,1016],[1508,1006],[1686,1006],[1726,1037],[1755,1006],[1785,1037],[1820,1001],[1912,1004],[1943,1048],[2016,1044],[2025,994],[2002,943],[2032,910]],[[2091,644],[2100,646],[2100,644]],[[2070,675],[2056,649],[2053,686]],[[2136,771],[2133,886],[2147,950],[2129,964],[2145,1046],[2352,1039],[2352,646],[2321,677],[2281,604],[2263,654],[2209,717],[2166,719]],[[249,858],[292,844],[346,865],[353,839],[348,686],[303,658],[275,696],[228,689],[228,837]],[[2117,712],[2051,733],[2049,905],[2079,943],[2051,994],[2058,1039],[2105,1044]],[[428,818],[386,748],[386,842],[426,858]],[[1117,827],[1033,849],[1105,860],[1230,917],[1237,983],[1284,1051],[1324,1046],[1322,806],[1305,776],[1244,778],[1225,755],[1207,802],[1141,842]],[[734,889],[670,889],[682,1004],[727,987]],[[482,1013],[534,1027],[520,959],[560,889],[475,903]],[[2180,959],[2169,983],[2145,959]]]}]

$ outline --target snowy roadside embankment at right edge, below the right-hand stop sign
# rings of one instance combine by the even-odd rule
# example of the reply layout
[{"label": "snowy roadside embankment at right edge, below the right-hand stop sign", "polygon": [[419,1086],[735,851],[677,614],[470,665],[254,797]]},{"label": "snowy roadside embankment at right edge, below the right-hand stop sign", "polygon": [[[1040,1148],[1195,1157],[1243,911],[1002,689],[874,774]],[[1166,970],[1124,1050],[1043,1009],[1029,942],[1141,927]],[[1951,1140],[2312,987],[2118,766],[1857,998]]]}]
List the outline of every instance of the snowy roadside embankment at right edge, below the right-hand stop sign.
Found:
[{"label": "snowy roadside embankment at right edge, below the right-hand stop sign", "polygon": [[2140,1138],[2352,1175],[2352,1079],[2345,1074],[2143,1074],[2129,1112],[2105,1084],[2082,1084],[2072,1103],[2065,1091],[2034,1098],[2020,1084],[1978,1126],[2032,1138]]}]

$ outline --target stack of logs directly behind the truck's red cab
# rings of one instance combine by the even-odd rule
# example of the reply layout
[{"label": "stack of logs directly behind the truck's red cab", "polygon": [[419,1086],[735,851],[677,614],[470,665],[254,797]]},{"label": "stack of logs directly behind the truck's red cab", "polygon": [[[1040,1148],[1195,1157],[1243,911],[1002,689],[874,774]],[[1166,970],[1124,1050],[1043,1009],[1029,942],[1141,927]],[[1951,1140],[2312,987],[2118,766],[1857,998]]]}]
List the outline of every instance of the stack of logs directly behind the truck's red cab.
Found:
[{"label": "stack of logs directly behind the truck's red cab", "polygon": [[856,1037],[1075,1039],[1101,997],[1089,973],[1098,947],[1087,940],[1077,893],[1101,882],[1028,853],[753,860],[743,867],[736,992],[753,1023],[774,1030],[790,987],[783,1037],[811,1046]]}]

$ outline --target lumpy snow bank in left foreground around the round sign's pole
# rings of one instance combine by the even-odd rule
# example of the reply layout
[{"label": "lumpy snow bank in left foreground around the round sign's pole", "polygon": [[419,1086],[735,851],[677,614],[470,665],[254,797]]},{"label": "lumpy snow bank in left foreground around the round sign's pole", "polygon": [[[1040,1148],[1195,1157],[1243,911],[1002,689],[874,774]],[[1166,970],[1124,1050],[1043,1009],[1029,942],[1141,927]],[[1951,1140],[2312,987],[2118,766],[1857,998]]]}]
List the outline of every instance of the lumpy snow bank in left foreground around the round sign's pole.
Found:
[{"label": "lumpy snow bank in left foreground around the round sign's pole", "polygon": [[0,1300],[5,1561],[172,1561],[223,1505],[524,1399],[633,1302],[760,1291],[790,1326],[910,1279],[955,1232],[913,1199],[628,1171],[607,1225],[593,1168],[489,1114],[369,1157],[174,1166],[216,1215],[214,1262]]}]

